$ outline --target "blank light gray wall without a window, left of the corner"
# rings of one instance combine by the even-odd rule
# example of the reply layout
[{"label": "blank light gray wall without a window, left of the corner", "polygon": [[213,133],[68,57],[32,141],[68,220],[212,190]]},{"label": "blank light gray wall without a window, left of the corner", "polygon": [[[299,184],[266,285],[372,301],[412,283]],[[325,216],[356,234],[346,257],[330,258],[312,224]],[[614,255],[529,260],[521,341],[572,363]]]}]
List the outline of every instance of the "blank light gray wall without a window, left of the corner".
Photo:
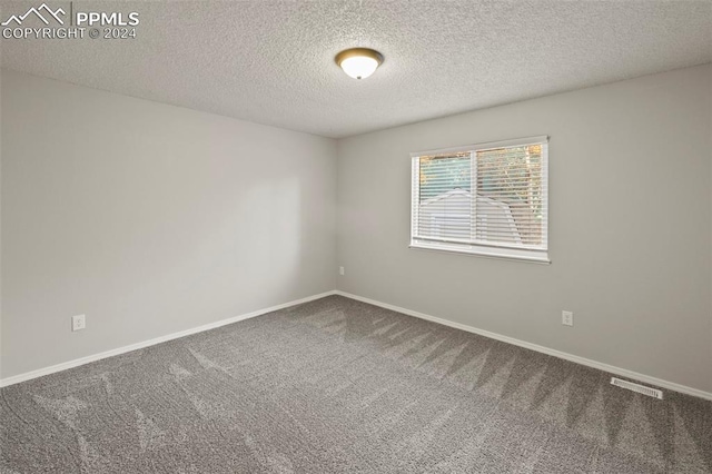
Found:
[{"label": "blank light gray wall without a window, left of the corner", "polygon": [[1,83],[2,377],[334,289],[333,140]]}]

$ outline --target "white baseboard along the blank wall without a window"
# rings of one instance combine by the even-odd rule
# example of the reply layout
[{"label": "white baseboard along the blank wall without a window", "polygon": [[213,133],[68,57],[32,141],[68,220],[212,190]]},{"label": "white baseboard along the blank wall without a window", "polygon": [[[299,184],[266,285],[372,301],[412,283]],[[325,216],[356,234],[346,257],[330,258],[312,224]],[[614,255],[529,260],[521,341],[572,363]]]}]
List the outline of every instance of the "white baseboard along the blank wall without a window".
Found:
[{"label": "white baseboard along the blank wall without a window", "polygon": [[131,344],[123,347],[118,347],[116,349],[106,350],[103,353],[93,354],[86,357],[76,358],[73,361],[63,362],[61,364],[52,365],[50,367],[39,368],[37,371],[27,372],[24,374],[14,375],[12,377],[7,377],[0,379],[0,387],[7,387],[9,385],[19,384],[20,382],[30,381],[32,378],[41,377],[43,375],[53,374],[56,372],[66,371],[68,368],[78,367],[80,365],[89,364],[91,362],[100,361],[102,358],[116,356],[119,354],[126,354],[131,350],[142,349],[148,346],[154,346],[156,344],[165,343],[167,340],[177,339],[179,337],[189,336],[196,333],[202,333],[204,330],[215,329],[216,327],[225,326],[227,324],[237,323],[239,320],[249,319],[256,316],[261,316],[267,313],[276,312],[278,309],[284,309],[289,306],[298,305],[301,303],[312,302],[314,299],[319,299],[325,296],[334,295],[336,292],[326,292],[320,293],[318,295],[307,296],[306,298],[296,299],[294,302],[283,303],[281,305],[270,306],[269,308],[258,309],[256,312],[246,313],[244,315],[234,316],[227,319],[218,320],[215,323],[205,324],[202,326],[194,327],[191,329],[180,330],[178,333],[172,333],[167,336],[155,337],[152,339],[144,340],[141,343]]}]

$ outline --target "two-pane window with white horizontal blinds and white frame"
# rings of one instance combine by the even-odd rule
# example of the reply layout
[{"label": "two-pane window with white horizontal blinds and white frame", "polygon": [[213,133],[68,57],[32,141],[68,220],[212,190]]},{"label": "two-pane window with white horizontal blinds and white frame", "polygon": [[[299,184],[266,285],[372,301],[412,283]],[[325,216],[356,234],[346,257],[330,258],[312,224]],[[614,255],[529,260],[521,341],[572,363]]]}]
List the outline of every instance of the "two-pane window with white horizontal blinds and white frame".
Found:
[{"label": "two-pane window with white horizontal blinds and white frame", "polygon": [[548,263],[547,145],[412,154],[411,247]]}]

